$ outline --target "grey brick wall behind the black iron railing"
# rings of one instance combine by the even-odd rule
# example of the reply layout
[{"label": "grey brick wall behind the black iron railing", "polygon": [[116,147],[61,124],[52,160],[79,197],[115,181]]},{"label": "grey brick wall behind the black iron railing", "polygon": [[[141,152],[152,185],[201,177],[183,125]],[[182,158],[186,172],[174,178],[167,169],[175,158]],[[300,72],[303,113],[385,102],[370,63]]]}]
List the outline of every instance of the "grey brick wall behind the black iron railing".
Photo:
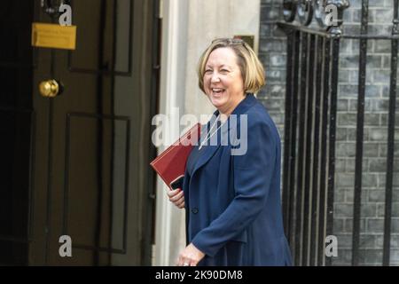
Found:
[{"label": "grey brick wall behind the black iron railing", "polygon": [[[266,68],[267,85],[259,93],[284,139],[286,94],[286,36],[276,26],[282,20],[282,0],[262,0],[259,56]],[[345,34],[360,30],[361,0],[350,0],[344,13]],[[389,35],[393,1],[369,0],[369,34]],[[387,109],[389,99],[390,41],[369,41],[365,89],[363,193],[360,263],[382,263],[385,178],[387,171]],[[336,176],[333,234],[338,237],[335,265],[348,265],[352,248],[352,216],[356,156],[356,107],[359,44],[340,43],[337,115]],[[397,108],[398,104],[396,104]],[[399,139],[399,114],[395,138]],[[395,140],[396,141],[396,140]],[[395,145],[394,193],[391,227],[391,265],[399,264],[399,143]]]}]

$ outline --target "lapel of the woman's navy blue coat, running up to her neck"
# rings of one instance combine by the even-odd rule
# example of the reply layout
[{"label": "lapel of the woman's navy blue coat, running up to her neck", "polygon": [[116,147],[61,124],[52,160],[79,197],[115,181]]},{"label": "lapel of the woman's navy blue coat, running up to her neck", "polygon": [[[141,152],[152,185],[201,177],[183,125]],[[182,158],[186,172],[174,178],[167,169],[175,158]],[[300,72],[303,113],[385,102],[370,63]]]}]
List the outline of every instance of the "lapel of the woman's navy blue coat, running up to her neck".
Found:
[{"label": "lapel of the woman's navy blue coat, running up to her neck", "polygon": [[[239,114],[245,114],[246,110],[251,107],[254,106],[254,104],[256,103],[256,99],[254,98],[253,94],[248,93],[246,95],[246,99],[243,99],[238,106],[236,106],[236,108],[234,109],[234,111],[231,114],[236,114],[239,116]],[[216,116],[219,114],[219,111],[216,110],[214,115],[212,116],[212,119],[210,122],[207,122],[206,127],[202,128],[201,131],[201,137],[204,133],[205,130],[209,129],[209,125],[212,125],[213,122],[215,122],[215,118]],[[237,118],[239,120],[239,117]],[[215,133],[215,135],[218,135],[218,139],[217,139],[217,145],[216,146],[209,146],[209,141],[207,141],[208,145],[203,146],[202,149],[200,151],[203,151],[202,154],[200,154],[200,158],[198,160],[198,162],[195,164],[194,166],[194,170],[192,171],[192,177],[194,176],[195,172],[197,170],[199,170],[203,165],[205,165],[211,158],[212,156],[216,153],[217,149],[219,149],[219,147],[221,146],[221,137],[226,137],[226,135],[228,135],[228,133],[231,131],[231,128],[234,125],[230,125],[230,117],[228,118],[226,125],[229,125],[228,127],[221,127],[220,130],[218,130],[218,133]],[[219,132],[222,132],[221,134],[219,134]],[[206,134],[205,134],[206,135]]]}]

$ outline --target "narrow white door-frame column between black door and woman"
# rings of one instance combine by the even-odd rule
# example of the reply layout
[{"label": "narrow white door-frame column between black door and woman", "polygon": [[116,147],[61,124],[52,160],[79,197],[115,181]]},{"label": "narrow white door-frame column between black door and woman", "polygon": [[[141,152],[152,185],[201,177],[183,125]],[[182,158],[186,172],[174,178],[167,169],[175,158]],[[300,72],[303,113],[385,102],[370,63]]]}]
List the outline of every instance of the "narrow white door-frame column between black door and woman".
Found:
[{"label": "narrow white door-frame column between black door and woman", "polygon": [[[185,59],[187,1],[164,0],[162,4],[162,51],[160,72],[160,114],[167,114],[170,127],[165,133],[167,145],[179,137],[179,117],[184,114]],[[177,114],[176,114],[177,112]],[[185,239],[181,229],[184,227],[184,209],[168,201],[168,188],[158,179],[154,265],[176,264],[177,253],[184,248]]]}]

